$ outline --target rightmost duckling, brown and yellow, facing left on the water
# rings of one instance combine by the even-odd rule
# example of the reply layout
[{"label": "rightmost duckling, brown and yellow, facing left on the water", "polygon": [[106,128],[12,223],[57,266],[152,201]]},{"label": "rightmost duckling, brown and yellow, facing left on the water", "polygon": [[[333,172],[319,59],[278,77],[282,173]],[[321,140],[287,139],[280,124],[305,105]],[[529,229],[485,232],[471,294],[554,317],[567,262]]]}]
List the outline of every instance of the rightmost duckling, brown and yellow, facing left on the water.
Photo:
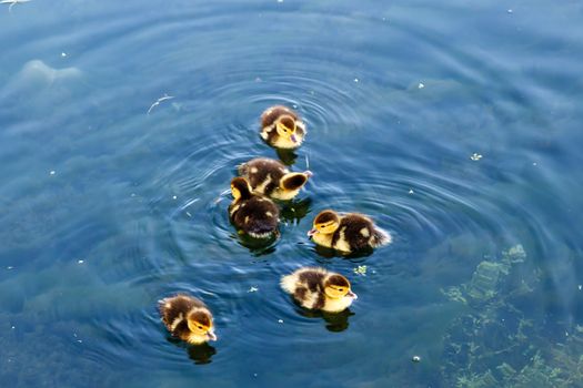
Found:
[{"label": "rightmost duckling, brown and yellow, facing left on the water", "polygon": [[318,214],[308,236],[318,245],[345,253],[375,248],[392,241],[391,235],[376,227],[368,216],[358,213],[341,216],[334,211]]}]

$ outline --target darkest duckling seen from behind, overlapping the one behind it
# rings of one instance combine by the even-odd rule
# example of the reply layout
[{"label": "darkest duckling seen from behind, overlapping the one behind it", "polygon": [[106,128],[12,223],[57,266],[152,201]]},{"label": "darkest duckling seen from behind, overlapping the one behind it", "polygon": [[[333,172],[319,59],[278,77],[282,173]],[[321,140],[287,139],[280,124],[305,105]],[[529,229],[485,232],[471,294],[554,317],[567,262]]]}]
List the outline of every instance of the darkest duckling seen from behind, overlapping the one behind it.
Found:
[{"label": "darkest duckling seen from behind, overlapping the one behind it", "polygon": [[233,202],[229,216],[233,225],[254,238],[268,238],[278,233],[280,210],[268,197],[253,194],[244,177],[231,181]]}]

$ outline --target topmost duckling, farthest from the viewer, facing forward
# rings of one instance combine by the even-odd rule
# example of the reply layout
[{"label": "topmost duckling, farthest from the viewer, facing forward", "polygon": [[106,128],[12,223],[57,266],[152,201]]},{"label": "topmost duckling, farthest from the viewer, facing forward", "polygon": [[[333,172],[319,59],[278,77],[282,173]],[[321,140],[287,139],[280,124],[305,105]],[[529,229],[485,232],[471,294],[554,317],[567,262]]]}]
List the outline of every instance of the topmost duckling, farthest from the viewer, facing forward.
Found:
[{"label": "topmost duckling, farthest from the viewer, facing forward", "polygon": [[271,106],[261,114],[261,137],[271,146],[296,149],[305,133],[305,124],[298,113],[287,106]]}]

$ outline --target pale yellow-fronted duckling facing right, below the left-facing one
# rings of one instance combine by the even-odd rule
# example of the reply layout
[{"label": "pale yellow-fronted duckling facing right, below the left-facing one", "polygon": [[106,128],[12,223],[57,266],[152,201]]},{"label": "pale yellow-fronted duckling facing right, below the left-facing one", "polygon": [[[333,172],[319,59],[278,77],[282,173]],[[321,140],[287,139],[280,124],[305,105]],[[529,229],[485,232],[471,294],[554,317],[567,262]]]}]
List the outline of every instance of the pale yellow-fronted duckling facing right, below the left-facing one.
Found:
[{"label": "pale yellow-fronted duckling facing right, below the left-facing one", "polygon": [[320,267],[302,267],[281,278],[281,288],[309,309],[339,313],[358,298],[344,276]]}]

